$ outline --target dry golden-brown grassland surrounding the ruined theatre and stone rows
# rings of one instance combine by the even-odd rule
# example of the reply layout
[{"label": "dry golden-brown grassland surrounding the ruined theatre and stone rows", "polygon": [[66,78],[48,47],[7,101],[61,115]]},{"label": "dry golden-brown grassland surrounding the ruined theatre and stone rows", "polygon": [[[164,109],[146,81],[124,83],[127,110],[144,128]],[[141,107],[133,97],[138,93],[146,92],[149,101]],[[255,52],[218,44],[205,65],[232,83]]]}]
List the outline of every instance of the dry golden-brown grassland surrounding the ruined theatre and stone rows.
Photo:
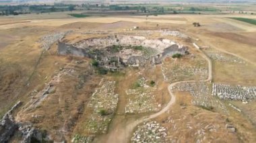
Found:
[{"label": "dry golden-brown grassland surrounding the ruined theatre and stone rows", "polygon": [[[228,17],[256,19],[256,15],[237,13],[150,15],[147,18],[133,15],[75,18],[66,12],[1,16],[0,117],[3,117],[17,101],[22,101],[22,107],[13,112],[15,120],[31,122],[35,128],[46,130],[49,138],[56,142],[71,142],[76,135],[94,136],[94,142],[110,142],[110,138],[121,138],[122,134],[128,136],[124,142],[131,142],[133,133],[125,132],[126,128],[129,128],[127,126],[158,111],[125,113],[125,107],[132,99],[126,91],[134,89],[141,77],[148,80],[148,85],[150,81],[154,81],[152,86],[156,88],[155,102],[160,104],[160,109],[164,109],[171,99],[168,91],[170,83],[206,80],[209,72],[206,69],[207,61],[193,46],[194,42],[206,55],[207,50],[209,51],[207,48],[210,48],[211,52],[243,61],[242,64],[223,62],[210,57],[213,65],[213,83],[256,86],[256,26]],[[194,27],[193,22],[199,22],[201,26]],[[139,29],[127,31],[134,26],[138,26]],[[181,59],[172,59],[170,56],[159,65],[127,67],[118,72],[99,75],[91,64],[92,59],[59,55],[57,41],[51,44],[49,50],[41,47],[40,39],[43,36],[68,30],[72,32],[62,40],[69,44],[90,38],[127,34],[155,39],[168,38],[187,46],[190,54]],[[154,30],[178,30],[189,36],[189,39],[164,36],[157,32],[150,34],[149,31]],[[146,34],[141,34],[141,31]],[[169,81],[164,79],[162,66],[166,68],[165,73],[168,73],[166,76],[169,76]],[[201,78],[198,73],[190,75],[188,68],[192,66],[205,68],[205,76]],[[182,69],[183,71],[179,72],[177,68],[180,67],[187,70]],[[66,69],[69,72],[65,73]],[[178,71],[177,77],[173,75],[173,71]],[[61,72],[63,75],[58,77]],[[106,134],[91,134],[84,130],[85,119],[92,114],[87,107],[92,100],[92,94],[100,87],[102,78],[116,82],[114,92],[118,94],[117,109],[108,124]],[[52,81],[55,90],[51,91],[40,105],[26,109],[27,104],[36,99],[37,94],[44,91]],[[139,88],[142,90],[142,87]],[[168,142],[256,142],[255,99],[248,104],[243,104],[242,101],[221,100],[228,110],[225,114],[194,105],[194,97],[188,92],[174,92],[174,95],[176,101],[170,109],[152,119],[166,128]],[[229,103],[241,109],[241,112],[230,107]],[[230,132],[226,128],[227,124],[234,126],[235,132]],[[17,142],[17,138],[20,136],[15,135],[13,142]]]}]

